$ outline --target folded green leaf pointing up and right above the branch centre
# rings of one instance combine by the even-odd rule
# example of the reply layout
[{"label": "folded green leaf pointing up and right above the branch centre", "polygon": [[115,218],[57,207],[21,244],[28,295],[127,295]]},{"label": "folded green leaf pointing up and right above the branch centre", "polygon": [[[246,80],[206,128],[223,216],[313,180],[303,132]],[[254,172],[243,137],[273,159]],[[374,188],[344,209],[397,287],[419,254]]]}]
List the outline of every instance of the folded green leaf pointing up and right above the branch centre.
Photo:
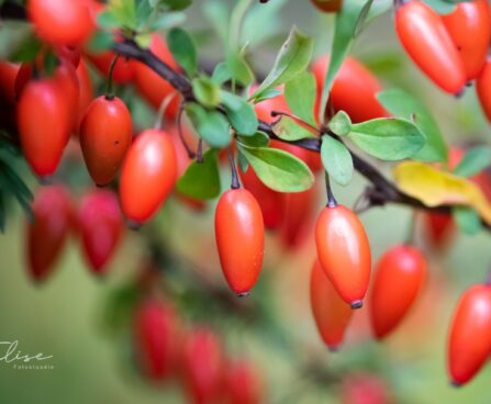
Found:
[{"label": "folded green leaf pointing up and right above the branch centre", "polygon": [[255,99],[264,91],[288,82],[309,66],[313,52],[313,40],[293,26],[287,42],[281,46],[271,71],[250,97]]}]

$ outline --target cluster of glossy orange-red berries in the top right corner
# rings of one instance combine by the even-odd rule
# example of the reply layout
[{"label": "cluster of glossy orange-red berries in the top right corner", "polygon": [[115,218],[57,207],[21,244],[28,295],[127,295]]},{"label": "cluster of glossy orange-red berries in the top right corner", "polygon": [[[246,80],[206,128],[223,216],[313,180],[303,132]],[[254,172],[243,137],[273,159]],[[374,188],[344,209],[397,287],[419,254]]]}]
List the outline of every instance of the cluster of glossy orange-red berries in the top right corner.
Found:
[{"label": "cluster of glossy orange-red berries in the top right corner", "polygon": [[440,89],[460,94],[476,80],[482,110],[491,122],[491,9],[489,1],[458,3],[439,15],[420,0],[403,2],[395,13],[401,44]]}]

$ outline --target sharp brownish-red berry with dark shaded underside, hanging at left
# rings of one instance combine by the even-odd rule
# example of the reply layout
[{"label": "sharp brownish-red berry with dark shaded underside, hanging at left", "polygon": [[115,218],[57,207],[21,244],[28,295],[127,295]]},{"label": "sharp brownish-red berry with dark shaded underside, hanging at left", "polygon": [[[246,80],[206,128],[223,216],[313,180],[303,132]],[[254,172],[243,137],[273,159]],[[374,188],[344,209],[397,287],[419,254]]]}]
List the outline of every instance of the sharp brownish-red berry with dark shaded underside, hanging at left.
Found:
[{"label": "sharp brownish-red berry with dark shaded underside, hanging at left", "polygon": [[132,117],[121,99],[101,96],[90,103],[80,124],[80,146],[98,186],[107,186],[116,177],[132,132]]}]

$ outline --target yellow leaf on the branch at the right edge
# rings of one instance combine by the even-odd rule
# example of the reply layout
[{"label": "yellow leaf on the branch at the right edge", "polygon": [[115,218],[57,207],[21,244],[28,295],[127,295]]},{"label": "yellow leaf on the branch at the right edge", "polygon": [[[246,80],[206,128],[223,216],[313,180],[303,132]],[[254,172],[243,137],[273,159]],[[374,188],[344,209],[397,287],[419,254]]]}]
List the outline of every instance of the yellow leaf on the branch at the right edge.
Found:
[{"label": "yellow leaf on the branch at the right edge", "polygon": [[420,200],[426,206],[466,205],[491,224],[491,204],[482,191],[466,178],[440,171],[420,161],[405,161],[393,170],[401,191]]}]

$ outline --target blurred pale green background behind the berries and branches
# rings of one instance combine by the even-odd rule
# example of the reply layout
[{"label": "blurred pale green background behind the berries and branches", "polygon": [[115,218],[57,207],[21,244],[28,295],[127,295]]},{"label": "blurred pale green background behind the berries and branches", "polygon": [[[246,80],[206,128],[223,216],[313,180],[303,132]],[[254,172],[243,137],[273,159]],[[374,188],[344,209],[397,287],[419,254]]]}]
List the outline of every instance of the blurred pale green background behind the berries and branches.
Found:
[{"label": "blurred pale green background behind the berries and branches", "polygon": [[[196,0],[186,12],[185,23],[197,33],[200,58],[207,63],[222,57],[222,46],[203,13],[203,7],[209,2]],[[234,1],[221,3],[225,8]],[[269,40],[257,46],[252,58],[258,71],[267,71],[292,24],[316,38],[316,55],[328,50],[333,19],[319,13],[310,2],[272,0],[260,8],[261,12],[271,14],[264,32],[257,30],[253,19],[245,24],[253,44],[255,37],[271,31]],[[25,35],[29,31],[24,25],[4,23],[0,27],[0,56],[8,56]],[[405,88],[424,100],[449,144],[489,144],[489,127],[473,91],[469,89],[460,100],[453,99],[439,92],[417,71],[397,41],[391,12],[364,31],[350,54],[366,63],[384,88]],[[98,82],[97,74],[92,74]],[[129,100],[136,126],[152,125],[153,112],[133,97],[132,89],[120,88],[118,91]],[[390,165],[376,164],[390,176]],[[76,172],[70,177],[77,184],[75,194],[80,194],[83,184],[90,183],[80,167],[72,167],[71,160],[65,161],[62,170]],[[230,181],[227,171],[224,166],[224,189]],[[30,178],[34,189],[38,187],[26,170],[24,178]],[[319,212],[324,200],[322,178],[317,182]],[[349,188],[335,188],[337,199],[353,206],[365,184],[356,176]],[[213,212],[214,203],[203,212],[194,212],[171,198],[153,223],[152,232],[157,233],[163,250],[179,257],[179,270],[187,267],[186,271],[199,272],[199,277],[225,287],[214,247]],[[445,366],[451,312],[467,287],[486,279],[490,265],[490,235],[458,235],[448,248],[436,254],[426,243],[421,216],[413,216],[405,207],[372,209],[364,213],[361,220],[370,238],[373,260],[388,247],[403,242],[415,220],[416,243],[427,254],[431,271],[425,290],[404,324],[382,344],[376,343],[364,307],[356,312],[343,349],[328,352],[310,312],[309,278],[315,256],[313,238],[308,237],[300,248],[287,250],[278,236],[270,233],[261,282],[248,299],[267,306],[275,327],[234,321],[230,318],[233,315],[213,318],[213,327],[223,337],[228,354],[245,356],[255,364],[267,403],[342,402],[346,382],[336,377],[316,381],[305,374],[305,363],[320,363],[327,374],[333,375],[375,374],[386,384],[394,403],[490,403],[489,368],[469,385],[455,389],[449,385]],[[0,340],[19,340],[23,352],[53,355],[49,363],[54,369],[14,370],[0,362],[0,402],[186,402],[177,383],[156,386],[140,377],[132,359],[130,324],[122,321],[114,325],[108,318],[118,293],[146,265],[148,250],[142,242],[145,232],[149,231],[126,232],[103,279],[89,272],[79,242],[71,238],[53,276],[43,284],[34,284],[27,276],[24,258],[25,217],[18,207],[11,207],[5,234],[0,236]],[[192,281],[192,277],[189,279]],[[193,322],[204,318],[192,304],[188,305],[183,316]]]}]

